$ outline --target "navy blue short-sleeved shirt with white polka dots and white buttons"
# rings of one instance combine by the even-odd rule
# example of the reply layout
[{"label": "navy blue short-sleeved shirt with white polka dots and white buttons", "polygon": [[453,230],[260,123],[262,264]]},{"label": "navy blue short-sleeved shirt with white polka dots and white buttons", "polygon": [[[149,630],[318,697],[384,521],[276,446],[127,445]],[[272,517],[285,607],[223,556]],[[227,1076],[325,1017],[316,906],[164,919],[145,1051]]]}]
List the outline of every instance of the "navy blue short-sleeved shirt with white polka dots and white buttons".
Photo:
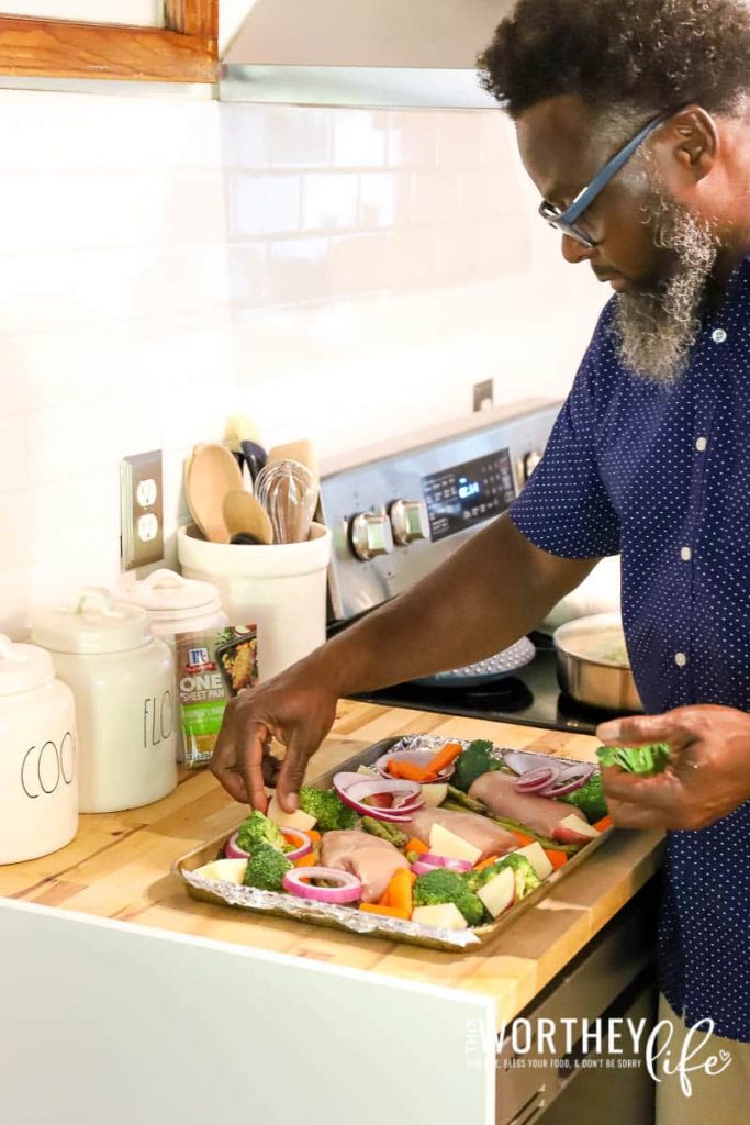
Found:
[{"label": "navy blue short-sleeved shirt with white polka dots and white buttons", "polygon": [[[648,713],[750,711],[750,255],[675,385],[620,363],[604,309],[545,454],[510,508],[564,558],[622,552],[622,610]],[[750,774],[750,747],[748,750]],[[750,1042],[750,801],[667,837],[660,984],[688,1024]]]}]

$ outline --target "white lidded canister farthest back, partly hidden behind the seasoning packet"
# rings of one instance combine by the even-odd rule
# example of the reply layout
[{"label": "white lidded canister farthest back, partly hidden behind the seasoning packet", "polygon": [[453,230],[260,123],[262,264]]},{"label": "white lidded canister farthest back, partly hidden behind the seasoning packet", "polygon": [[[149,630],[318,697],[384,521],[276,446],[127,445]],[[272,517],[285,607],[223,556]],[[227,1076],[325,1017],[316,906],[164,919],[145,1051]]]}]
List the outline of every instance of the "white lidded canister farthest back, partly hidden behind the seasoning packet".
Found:
[{"label": "white lidded canister farthest back, partly hidden behind the seasoning packet", "polygon": [[[193,582],[174,570],[162,567],[142,582],[124,586],[118,600],[139,605],[148,614],[151,631],[162,637],[175,657],[175,634],[223,629],[229,619],[222,610],[219,592],[210,582]],[[177,660],[177,658],[175,658]],[[175,756],[186,760],[184,738],[178,719],[180,688],[179,670],[174,682]]]}]

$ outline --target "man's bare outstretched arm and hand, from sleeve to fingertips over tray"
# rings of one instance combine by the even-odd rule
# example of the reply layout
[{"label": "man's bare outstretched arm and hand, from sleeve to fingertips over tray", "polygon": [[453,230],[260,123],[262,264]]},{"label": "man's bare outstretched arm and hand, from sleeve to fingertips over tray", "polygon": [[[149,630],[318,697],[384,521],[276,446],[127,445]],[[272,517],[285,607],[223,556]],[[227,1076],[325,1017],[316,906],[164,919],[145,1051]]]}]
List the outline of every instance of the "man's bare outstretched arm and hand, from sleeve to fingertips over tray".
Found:
[{"label": "man's bare outstretched arm and hand, from sleeve to fingertips over tray", "polygon": [[265,809],[263,783],[274,778],[264,749],[275,737],[287,747],[277,792],[291,810],[341,695],[458,667],[507,648],[535,628],[597,561],[548,555],[508,515],[500,516],[410,591],[232,700],[211,771],[235,800]]}]

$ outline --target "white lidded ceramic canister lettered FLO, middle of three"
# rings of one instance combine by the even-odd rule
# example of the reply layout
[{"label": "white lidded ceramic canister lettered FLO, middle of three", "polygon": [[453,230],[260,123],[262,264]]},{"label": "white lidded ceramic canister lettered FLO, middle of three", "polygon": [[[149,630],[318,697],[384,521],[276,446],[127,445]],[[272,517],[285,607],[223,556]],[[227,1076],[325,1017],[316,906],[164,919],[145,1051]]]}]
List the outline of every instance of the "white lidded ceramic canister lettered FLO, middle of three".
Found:
[{"label": "white lidded ceramic canister lettered FLO, middle of three", "polygon": [[75,699],[81,812],[133,809],[170,793],[174,663],[146,611],[89,587],[74,605],[38,613],[31,639],[52,652]]}]

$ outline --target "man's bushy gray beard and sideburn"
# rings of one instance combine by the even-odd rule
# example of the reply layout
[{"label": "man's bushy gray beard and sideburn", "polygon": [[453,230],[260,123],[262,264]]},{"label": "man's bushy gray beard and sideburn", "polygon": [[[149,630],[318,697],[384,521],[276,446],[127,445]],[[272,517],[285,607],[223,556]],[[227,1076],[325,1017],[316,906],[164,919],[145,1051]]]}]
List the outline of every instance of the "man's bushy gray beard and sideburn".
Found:
[{"label": "man's bushy gray beard and sideburn", "polygon": [[657,292],[622,292],[612,323],[617,353],[634,375],[676,382],[701,328],[698,312],[719,253],[711,226],[652,187],[647,204],[653,241],[672,251],[677,267]]}]

